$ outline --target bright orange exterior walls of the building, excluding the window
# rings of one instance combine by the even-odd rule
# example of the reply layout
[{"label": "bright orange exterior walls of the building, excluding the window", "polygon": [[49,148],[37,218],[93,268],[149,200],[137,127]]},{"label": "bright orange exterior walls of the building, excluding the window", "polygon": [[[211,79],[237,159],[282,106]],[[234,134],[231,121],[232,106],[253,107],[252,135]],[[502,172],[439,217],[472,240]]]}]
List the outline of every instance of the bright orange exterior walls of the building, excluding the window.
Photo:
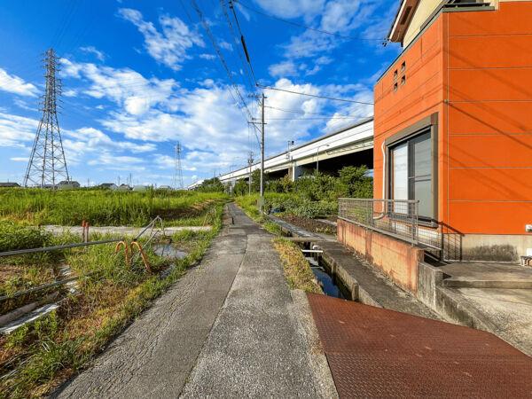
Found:
[{"label": "bright orange exterior walls of the building, excluding the window", "polygon": [[374,198],[385,140],[433,115],[440,229],[532,239],[531,21],[532,1],[443,11],[403,51],[374,89]]}]

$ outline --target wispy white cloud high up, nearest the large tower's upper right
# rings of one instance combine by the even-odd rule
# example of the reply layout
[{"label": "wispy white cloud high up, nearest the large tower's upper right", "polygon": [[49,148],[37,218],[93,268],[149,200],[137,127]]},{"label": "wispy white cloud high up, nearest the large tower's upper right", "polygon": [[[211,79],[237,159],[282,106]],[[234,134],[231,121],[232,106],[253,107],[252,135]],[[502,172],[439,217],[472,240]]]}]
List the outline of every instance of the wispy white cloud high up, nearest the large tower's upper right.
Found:
[{"label": "wispy white cloud high up, nearest the large tower's upper right", "polygon": [[159,24],[162,29],[160,32],[153,22],[145,21],[142,13],[137,10],[121,8],[119,15],[134,24],[144,35],[145,49],[153,59],[175,71],[181,69],[185,59],[191,58],[187,54],[189,49],[194,45],[205,46],[199,33],[189,29],[183,20],[177,17],[160,16]]}]

